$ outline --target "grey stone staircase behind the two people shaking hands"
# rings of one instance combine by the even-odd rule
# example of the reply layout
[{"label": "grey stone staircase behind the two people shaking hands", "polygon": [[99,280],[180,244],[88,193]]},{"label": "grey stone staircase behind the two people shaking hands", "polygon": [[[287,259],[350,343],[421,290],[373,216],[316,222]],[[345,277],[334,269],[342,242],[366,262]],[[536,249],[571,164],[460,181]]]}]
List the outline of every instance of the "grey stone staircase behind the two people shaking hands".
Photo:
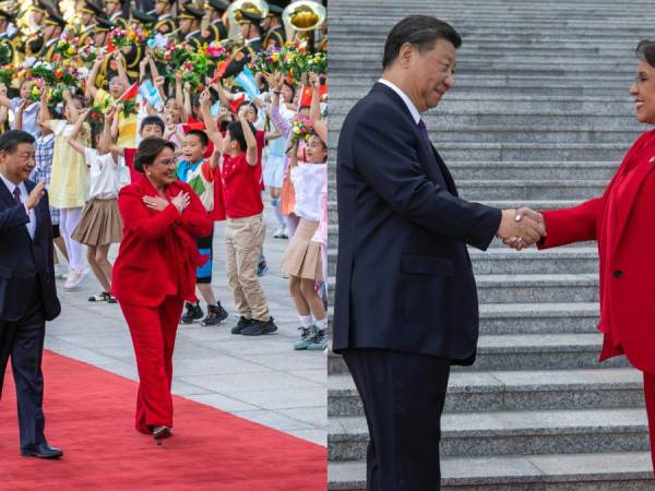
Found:
[{"label": "grey stone staircase behind the two people shaking hands", "polygon": [[[464,38],[455,88],[425,117],[463,197],[574,205],[605,189],[645,130],[628,87],[636,43],[655,37],[650,1],[331,0],[332,156],[345,115],[380,74],[386,33],[410,13],[451,22]],[[474,367],[452,372],[443,489],[655,489],[641,373],[624,358],[597,362],[596,244],[517,253],[496,242],[471,253],[479,350]],[[329,489],[362,490],[361,404],[334,354],[329,373]]]}]

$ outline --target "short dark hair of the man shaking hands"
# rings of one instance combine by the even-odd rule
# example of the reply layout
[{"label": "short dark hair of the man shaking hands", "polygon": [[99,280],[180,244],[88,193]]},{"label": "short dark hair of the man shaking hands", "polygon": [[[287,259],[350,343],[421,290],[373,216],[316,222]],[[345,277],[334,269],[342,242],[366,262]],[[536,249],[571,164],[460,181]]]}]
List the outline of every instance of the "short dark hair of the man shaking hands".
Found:
[{"label": "short dark hair of the man shaking hands", "polygon": [[394,25],[386,36],[382,68],[393,63],[405,43],[416,46],[422,55],[431,50],[439,39],[451,41],[455,48],[462,46],[462,37],[449,23],[430,15],[409,15]]}]

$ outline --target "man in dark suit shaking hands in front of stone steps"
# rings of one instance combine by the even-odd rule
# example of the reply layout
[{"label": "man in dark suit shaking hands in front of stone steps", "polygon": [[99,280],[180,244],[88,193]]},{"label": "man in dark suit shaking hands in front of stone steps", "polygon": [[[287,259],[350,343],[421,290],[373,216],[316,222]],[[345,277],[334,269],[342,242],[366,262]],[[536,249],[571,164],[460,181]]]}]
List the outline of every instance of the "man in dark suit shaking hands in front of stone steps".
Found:
[{"label": "man in dark suit shaking hands in front of stone steps", "polygon": [[440,489],[451,364],[471,364],[478,304],[467,244],[526,244],[543,225],[458,197],[420,115],[453,86],[460,35],[416,15],[393,27],[384,72],[348,113],[337,151],[338,260],[333,349],[368,421],[368,489]]}]

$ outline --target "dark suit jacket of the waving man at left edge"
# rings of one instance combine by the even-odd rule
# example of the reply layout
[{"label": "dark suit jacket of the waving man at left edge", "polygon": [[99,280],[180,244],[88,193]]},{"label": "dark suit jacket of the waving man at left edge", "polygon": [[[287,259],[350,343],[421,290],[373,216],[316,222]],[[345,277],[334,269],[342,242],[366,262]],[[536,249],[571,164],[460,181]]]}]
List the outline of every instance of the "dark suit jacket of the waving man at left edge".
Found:
[{"label": "dark suit jacket of the waving man at left edge", "polygon": [[[27,191],[35,183],[26,181]],[[55,286],[52,266],[52,224],[48,196],[35,208],[34,240],[27,232],[29,217],[25,207],[15,204],[13,196],[0,180],[0,321],[17,321],[28,309],[29,291],[38,276],[47,321],[61,311]]]}]

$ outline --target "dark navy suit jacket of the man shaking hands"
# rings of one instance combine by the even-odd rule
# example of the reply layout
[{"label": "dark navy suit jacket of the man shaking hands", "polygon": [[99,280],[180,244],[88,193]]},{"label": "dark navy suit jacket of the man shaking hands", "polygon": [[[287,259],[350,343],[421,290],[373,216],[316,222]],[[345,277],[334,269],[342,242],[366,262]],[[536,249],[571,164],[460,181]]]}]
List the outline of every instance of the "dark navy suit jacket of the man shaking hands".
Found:
[{"label": "dark navy suit jacket of the man shaking hands", "polygon": [[476,284],[501,212],[457,197],[401,97],[376,84],[344,121],[337,151],[338,260],[333,349],[475,359]]}]

